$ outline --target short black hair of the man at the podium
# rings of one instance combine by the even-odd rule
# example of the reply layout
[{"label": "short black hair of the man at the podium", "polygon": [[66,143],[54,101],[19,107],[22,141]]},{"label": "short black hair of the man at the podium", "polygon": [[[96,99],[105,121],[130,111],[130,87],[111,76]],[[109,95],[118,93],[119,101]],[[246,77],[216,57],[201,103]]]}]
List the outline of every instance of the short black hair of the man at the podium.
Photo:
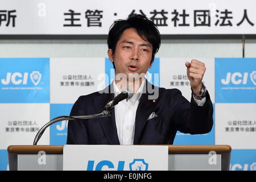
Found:
[{"label": "short black hair of the man at the podium", "polygon": [[158,31],[156,25],[150,19],[148,19],[146,16],[139,14],[130,15],[127,19],[115,20],[112,26],[110,26],[108,35],[108,47],[109,49],[112,49],[113,55],[118,40],[121,38],[123,31],[128,28],[135,28],[135,30],[138,32],[139,36],[141,36],[143,40],[146,40],[147,42],[152,44],[152,63],[155,58],[155,53],[158,52],[161,44],[160,32]]}]

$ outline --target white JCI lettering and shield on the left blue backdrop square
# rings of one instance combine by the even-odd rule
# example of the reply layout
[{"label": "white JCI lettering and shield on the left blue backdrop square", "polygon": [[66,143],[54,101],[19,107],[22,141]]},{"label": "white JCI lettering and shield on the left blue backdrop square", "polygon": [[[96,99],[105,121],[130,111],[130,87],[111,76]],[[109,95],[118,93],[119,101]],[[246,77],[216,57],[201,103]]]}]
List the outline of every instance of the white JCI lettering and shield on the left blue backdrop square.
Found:
[{"label": "white JCI lettering and shield on the left blue backdrop square", "polygon": [[[39,71],[33,71],[32,73],[30,73],[30,80],[31,82],[36,86],[39,84],[40,80],[42,78],[42,74]],[[19,73],[19,72],[15,72],[15,73],[7,73],[6,74],[6,78],[1,80],[1,83],[3,85],[9,85],[14,84],[14,85],[27,85],[27,81],[28,81],[28,72],[25,73]]]}]

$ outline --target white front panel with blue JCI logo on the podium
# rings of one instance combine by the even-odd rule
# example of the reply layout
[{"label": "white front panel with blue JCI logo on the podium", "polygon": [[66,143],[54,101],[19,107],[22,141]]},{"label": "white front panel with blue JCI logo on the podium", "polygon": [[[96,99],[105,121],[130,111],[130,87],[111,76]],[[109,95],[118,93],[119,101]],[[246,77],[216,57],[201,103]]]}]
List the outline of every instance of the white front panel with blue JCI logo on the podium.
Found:
[{"label": "white front panel with blue JCI logo on the podium", "polygon": [[63,170],[167,171],[167,146],[65,145]]}]

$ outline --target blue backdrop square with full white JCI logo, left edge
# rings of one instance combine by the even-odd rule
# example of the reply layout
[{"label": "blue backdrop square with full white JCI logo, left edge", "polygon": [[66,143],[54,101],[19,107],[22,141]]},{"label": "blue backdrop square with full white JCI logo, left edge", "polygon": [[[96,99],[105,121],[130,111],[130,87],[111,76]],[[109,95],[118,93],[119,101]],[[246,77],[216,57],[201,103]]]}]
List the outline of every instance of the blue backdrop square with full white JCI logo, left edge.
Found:
[{"label": "blue backdrop square with full white JCI logo, left edge", "polygon": [[48,103],[49,58],[1,58],[1,103]]}]

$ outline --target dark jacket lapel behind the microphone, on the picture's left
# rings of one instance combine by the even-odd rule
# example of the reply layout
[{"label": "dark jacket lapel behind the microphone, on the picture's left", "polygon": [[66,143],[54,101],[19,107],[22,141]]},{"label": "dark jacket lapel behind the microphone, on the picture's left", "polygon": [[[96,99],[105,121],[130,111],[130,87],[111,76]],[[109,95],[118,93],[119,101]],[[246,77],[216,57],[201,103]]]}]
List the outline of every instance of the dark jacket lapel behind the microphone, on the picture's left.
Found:
[{"label": "dark jacket lapel behind the microphone, on the picture's left", "polygon": [[[102,111],[106,103],[109,100],[112,100],[113,98],[113,84],[111,84],[104,89],[104,93],[100,94],[100,96],[98,97],[94,97],[94,105],[96,107],[97,112]],[[109,144],[120,144],[117,135],[117,127],[115,125],[114,108],[112,109],[112,114],[110,115],[110,117],[98,119],[100,119],[101,127],[109,140]]]}]

